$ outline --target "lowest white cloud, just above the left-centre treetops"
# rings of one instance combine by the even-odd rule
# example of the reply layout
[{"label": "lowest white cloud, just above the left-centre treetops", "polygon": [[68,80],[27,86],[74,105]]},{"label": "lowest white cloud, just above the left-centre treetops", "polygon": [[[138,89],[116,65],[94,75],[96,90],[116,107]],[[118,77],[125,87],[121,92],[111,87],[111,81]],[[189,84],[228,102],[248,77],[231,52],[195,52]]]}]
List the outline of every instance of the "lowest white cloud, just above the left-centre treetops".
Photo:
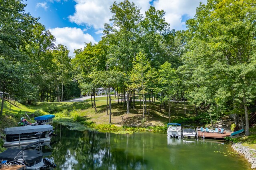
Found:
[{"label": "lowest white cloud, just above the left-centre treetops", "polygon": [[53,28],[49,31],[56,38],[55,45],[62,44],[68,47],[70,50],[69,55],[74,55],[74,49],[83,48],[84,43],[92,42],[96,43],[94,38],[90,34],[84,34],[80,28]]}]

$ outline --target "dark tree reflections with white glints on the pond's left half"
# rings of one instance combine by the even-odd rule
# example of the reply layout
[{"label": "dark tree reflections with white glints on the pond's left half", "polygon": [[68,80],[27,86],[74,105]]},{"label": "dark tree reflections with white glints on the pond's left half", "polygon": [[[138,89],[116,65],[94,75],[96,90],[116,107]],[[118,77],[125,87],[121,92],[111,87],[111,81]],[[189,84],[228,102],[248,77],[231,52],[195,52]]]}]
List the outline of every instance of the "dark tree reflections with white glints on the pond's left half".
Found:
[{"label": "dark tree reflections with white glints on the pond's left half", "polygon": [[[111,148],[111,143],[118,144],[120,135],[110,139],[110,133],[96,131],[68,130],[61,125],[55,126],[58,136],[52,138],[52,156],[57,169],[145,169],[142,156],[134,156],[125,149]],[[123,135],[122,137],[129,135]],[[113,136],[112,136],[113,137]]]}]

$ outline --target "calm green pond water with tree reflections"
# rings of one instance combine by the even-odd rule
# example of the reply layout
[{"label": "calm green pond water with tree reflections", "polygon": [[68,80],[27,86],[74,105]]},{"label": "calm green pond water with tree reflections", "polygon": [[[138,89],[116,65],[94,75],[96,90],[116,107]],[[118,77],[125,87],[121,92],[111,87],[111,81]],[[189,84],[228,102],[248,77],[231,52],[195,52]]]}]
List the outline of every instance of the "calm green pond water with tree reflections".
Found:
[{"label": "calm green pond water with tree reflections", "polygon": [[61,125],[54,129],[58,136],[52,138],[56,143],[48,152],[52,152],[57,170],[250,169],[230,145],[216,140],[178,140],[153,132],[76,131]]}]

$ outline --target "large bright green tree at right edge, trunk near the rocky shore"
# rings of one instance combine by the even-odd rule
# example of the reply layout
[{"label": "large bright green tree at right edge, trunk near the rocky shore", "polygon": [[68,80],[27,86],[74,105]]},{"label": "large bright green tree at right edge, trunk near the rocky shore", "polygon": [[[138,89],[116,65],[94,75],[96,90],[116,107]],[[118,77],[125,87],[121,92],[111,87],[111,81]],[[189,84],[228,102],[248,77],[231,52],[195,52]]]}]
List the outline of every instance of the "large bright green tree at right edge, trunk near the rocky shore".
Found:
[{"label": "large bright green tree at right edge, trunk near the rocky shore", "polygon": [[[184,58],[195,89],[214,87],[211,98],[216,105],[232,101],[232,106],[224,107],[244,108],[246,135],[250,134],[248,105],[255,97],[256,83],[255,8],[253,0],[200,4],[195,18],[187,21],[192,40]],[[208,90],[202,92],[209,94]]]}]

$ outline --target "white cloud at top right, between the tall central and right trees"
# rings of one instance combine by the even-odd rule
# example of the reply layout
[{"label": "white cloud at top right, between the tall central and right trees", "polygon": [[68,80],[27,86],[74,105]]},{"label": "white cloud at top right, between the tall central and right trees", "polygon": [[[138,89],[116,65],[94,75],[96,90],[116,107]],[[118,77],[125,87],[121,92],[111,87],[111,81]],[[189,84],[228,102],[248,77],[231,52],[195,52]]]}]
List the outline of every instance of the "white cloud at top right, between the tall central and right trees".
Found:
[{"label": "white cloud at top right, between the tall central and right trees", "polygon": [[171,28],[182,30],[185,28],[182,16],[193,18],[200,2],[206,4],[207,0],[157,0],[154,1],[154,6],[157,10],[166,12],[165,19]]}]

